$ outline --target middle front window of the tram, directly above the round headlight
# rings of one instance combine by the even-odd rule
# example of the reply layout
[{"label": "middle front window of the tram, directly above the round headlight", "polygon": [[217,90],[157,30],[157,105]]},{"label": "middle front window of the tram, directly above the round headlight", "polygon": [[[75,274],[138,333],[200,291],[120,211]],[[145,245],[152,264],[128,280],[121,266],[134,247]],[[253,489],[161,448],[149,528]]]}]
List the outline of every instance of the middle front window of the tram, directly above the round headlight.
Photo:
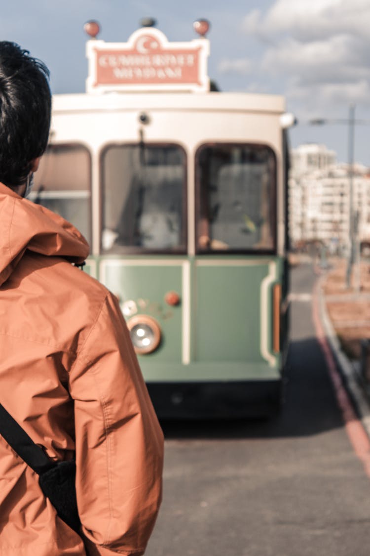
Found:
[{"label": "middle front window of the tram, directly above the round headlight", "polygon": [[102,157],[104,252],[186,249],[186,156],[176,145],[114,145]]}]

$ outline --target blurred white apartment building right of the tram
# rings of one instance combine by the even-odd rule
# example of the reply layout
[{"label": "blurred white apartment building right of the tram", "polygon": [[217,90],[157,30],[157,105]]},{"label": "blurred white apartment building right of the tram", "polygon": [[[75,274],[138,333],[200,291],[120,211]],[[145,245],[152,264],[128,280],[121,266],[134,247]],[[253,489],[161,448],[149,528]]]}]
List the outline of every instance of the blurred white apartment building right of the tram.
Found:
[{"label": "blurred white apartment building right of the tram", "polygon": [[[290,237],[292,245],[321,240],[333,249],[349,244],[349,191],[360,241],[370,240],[370,172],[337,165],[324,145],[301,145],[292,152],[290,175]],[[357,223],[357,224],[356,224]]]}]

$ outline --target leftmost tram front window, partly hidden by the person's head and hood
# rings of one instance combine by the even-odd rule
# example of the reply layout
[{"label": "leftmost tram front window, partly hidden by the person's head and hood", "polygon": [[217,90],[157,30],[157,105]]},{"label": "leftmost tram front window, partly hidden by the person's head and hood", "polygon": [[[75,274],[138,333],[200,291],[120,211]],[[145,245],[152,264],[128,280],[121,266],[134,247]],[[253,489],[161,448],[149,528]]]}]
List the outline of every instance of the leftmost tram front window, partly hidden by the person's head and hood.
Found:
[{"label": "leftmost tram front window, partly hidden by the person's head and hood", "polygon": [[91,162],[82,145],[49,145],[29,198],[71,222],[91,241]]}]

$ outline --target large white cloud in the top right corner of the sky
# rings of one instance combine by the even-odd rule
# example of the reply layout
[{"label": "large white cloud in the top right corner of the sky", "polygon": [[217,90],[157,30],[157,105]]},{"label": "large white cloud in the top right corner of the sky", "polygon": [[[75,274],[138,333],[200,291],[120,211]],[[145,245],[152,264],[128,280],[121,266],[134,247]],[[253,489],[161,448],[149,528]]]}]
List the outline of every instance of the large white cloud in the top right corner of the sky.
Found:
[{"label": "large white cloud in the top right corner of the sky", "polygon": [[369,21],[368,0],[276,0],[241,27],[265,44],[261,79],[285,80],[287,96],[305,110],[314,99],[370,104]]}]

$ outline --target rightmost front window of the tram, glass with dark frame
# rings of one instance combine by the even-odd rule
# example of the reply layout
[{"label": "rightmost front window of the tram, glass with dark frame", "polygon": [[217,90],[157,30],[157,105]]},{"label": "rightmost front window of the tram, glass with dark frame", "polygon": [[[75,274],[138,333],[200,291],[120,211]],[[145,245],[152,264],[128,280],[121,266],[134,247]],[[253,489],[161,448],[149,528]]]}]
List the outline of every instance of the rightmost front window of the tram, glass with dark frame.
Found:
[{"label": "rightmost front window of the tram, glass with dark frame", "polygon": [[196,157],[197,250],[275,247],[276,163],[259,145],[210,145]]}]

